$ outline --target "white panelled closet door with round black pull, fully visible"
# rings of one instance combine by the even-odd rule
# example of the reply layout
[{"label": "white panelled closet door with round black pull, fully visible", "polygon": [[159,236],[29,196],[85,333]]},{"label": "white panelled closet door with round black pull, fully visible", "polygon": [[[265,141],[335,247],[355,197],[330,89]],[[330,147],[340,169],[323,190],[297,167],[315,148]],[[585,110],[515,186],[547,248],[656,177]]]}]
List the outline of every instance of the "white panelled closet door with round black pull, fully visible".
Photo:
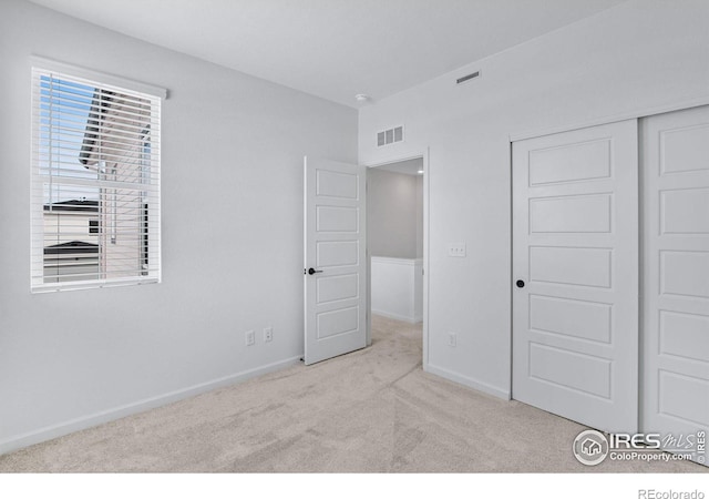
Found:
[{"label": "white panelled closet door with round black pull, fully visible", "polygon": [[513,238],[513,397],[637,431],[636,120],[515,142]]}]

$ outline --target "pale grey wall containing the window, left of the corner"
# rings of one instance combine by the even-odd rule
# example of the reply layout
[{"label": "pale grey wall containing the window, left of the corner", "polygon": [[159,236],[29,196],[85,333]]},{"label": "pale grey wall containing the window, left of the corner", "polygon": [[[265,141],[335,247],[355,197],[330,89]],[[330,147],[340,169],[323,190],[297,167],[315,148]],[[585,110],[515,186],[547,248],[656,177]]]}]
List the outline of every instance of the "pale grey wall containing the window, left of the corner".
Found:
[{"label": "pale grey wall containing the window, left of the corner", "polygon": [[[162,284],[30,294],[30,54],[169,90]],[[296,361],[302,156],[356,162],[357,112],[20,0],[0,61],[0,451]]]}]

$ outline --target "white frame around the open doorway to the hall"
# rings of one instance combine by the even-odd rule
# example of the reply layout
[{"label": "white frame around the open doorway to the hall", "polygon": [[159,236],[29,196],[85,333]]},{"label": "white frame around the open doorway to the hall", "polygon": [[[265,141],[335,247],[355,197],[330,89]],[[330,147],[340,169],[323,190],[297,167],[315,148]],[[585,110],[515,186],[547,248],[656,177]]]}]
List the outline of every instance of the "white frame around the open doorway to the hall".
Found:
[{"label": "white frame around the open doorway to the hall", "polygon": [[[388,159],[387,161],[376,161],[371,163],[360,163],[362,166],[367,166],[367,171],[369,169],[377,169],[380,166],[387,166],[393,163],[401,163],[403,161],[409,160],[422,160],[423,161],[423,303],[422,303],[422,329],[423,329],[423,338],[422,338],[422,347],[423,347],[423,358],[422,365],[423,370],[428,370],[429,367],[429,256],[431,252],[429,251],[429,182],[430,182],[430,169],[431,162],[429,161],[429,147],[419,154],[410,154],[394,159]],[[367,180],[368,189],[369,189],[369,177]],[[369,212],[368,212],[369,213]],[[368,215],[369,216],[369,215]],[[371,285],[371,253],[369,249],[369,227],[370,224],[367,225],[367,346],[370,346],[372,343],[372,285]]]}]

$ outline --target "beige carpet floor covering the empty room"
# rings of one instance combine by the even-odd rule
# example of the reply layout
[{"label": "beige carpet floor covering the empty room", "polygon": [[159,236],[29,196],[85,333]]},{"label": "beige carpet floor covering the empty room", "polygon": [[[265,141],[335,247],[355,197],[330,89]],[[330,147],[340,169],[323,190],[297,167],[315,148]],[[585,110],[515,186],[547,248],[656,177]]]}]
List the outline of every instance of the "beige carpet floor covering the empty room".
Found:
[{"label": "beige carpet floor covering the empty room", "polygon": [[707,472],[572,455],[583,426],[421,369],[421,328],[0,457],[0,472]]}]

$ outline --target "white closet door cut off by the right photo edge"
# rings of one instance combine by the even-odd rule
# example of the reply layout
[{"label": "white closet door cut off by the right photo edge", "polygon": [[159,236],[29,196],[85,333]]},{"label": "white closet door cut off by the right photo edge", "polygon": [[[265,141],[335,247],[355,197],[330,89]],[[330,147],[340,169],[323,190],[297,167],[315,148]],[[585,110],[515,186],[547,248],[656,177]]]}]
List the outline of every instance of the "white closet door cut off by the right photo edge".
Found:
[{"label": "white closet door cut off by the right photo edge", "polygon": [[641,426],[706,462],[697,434],[709,432],[709,106],[641,123]]}]

